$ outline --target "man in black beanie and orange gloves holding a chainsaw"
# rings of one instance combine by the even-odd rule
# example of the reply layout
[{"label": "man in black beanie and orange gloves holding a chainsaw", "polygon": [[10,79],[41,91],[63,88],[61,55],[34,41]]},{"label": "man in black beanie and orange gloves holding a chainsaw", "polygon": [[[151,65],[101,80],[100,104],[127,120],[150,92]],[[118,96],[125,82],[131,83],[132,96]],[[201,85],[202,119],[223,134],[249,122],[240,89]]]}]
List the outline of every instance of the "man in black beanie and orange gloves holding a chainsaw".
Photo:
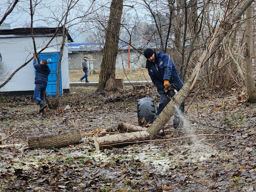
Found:
[{"label": "man in black beanie and orange gloves holding a chainsaw", "polygon": [[[171,101],[171,98],[181,89],[183,82],[169,55],[147,48],[144,51],[144,56],[147,58],[146,69],[152,82],[157,86],[161,98],[155,113],[155,120]],[[184,115],[184,107],[185,103],[183,102],[180,107],[182,116]],[[173,119],[173,127],[176,129],[179,125],[183,126],[183,117],[176,113]]]}]

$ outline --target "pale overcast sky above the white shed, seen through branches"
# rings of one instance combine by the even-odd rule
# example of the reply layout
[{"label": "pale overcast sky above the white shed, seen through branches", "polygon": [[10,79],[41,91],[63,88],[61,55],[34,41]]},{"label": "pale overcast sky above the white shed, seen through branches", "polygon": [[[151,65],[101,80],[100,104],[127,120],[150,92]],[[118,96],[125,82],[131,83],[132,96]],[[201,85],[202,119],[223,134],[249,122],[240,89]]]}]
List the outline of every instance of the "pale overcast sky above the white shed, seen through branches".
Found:
[{"label": "pale overcast sky above the white shed, seen through branches", "polygon": [[[7,10],[7,5],[10,3],[13,3],[14,0],[0,0],[0,18],[3,17],[4,13]],[[32,0],[33,4],[35,4],[35,0]],[[5,23],[10,23],[11,29],[24,27],[26,24],[30,25],[30,1],[28,0],[21,0],[18,2],[18,4],[15,6],[14,10],[8,17],[5,19]],[[39,27],[39,26],[46,26],[46,27],[56,27],[57,24],[54,22],[54,19],[51,19],[51,17],[57,17],[58,19],[61,18],[60,14],[63,12],[62,5],[63,1],[53,1],[53,0],[42,0],[40,2],[40,5],[38,5],[38,9],[36,10],[36,13],[33,17],[33,27]],[[94,3],[95,4],[95,3]],[[91,5],[90,0],[82,0],[77,4],[77,7],[75,10],[72,10],[69,15],[69,19],[73,19],[78,15],[78,12],[86,11],[89,9]],[[93,7],[95,7],[94,5]],[[39,7],[41,7],[39,9]],[[91,8],[93,8],[91,7]],[[56,14],[54,16],[54,14]],[[47,19],[47,21],[46,21]],[[75,43],[82,43],[83,40],[81,39],[81,35],[77,36],[76,32],[81,27],[81,25],[75,25],[71,27],[70,33],[71,37],[75,41]]]}]

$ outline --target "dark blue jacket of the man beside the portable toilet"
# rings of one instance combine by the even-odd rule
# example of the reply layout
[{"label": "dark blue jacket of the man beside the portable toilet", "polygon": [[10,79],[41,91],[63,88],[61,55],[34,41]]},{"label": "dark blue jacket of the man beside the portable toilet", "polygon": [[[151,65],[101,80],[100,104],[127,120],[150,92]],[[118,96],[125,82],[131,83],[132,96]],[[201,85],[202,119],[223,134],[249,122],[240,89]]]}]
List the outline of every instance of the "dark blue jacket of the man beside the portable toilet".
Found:
[{"label": "dark blue jacket of the man beside the portable toilet", "polygon": [[34,59],[33,65],[35,67],[35,84],[41,84],[47,86],[48,75],[51,70],[48,65],[39,65],[37,64],[37,59]]}]

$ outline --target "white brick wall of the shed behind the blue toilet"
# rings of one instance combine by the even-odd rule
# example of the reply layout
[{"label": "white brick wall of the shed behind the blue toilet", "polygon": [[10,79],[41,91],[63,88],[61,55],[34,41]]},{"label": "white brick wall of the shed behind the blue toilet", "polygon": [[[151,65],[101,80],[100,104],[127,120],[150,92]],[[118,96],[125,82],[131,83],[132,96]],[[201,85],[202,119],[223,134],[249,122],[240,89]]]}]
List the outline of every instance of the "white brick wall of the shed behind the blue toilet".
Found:
[{"label": "white brick wall of the shed behind the blue toilet", "polygon": [[[18,67],[26,63],[34,55],[34,47],[31,36],[19,38],[1,38],[0,53],[2,62],[0,63],[0,83],[2,84]],[[49,42],[50,37],[35,37],[37,48],[43,48]],[[55,37],[48,47],[60,49],[62,36]],[[13,78],[3,86],[0,91],[30,91],[35,88],[35,71],[33,60],[20,69]],[[62,88],[69,89],[69,61],[67,46],[65,46],[62,65]]]}]

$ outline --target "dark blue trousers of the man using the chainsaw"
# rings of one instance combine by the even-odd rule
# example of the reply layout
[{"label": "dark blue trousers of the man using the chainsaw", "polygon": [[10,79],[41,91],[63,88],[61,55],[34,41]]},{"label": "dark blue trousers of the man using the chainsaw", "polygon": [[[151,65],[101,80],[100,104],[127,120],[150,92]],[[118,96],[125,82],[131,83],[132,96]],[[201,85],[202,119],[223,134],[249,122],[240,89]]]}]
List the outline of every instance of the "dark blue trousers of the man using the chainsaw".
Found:
[{"label": "dark blue trousers of the man using the chainsaw", "polygon": [[[162,112],[162,110],[165,108],[165,106],[171,101],[171,99],[167,96],[165,93],[160,94],[161,101],[159,103],[159,106],[157,107],[157,112],[155,113],[155,119],[158,117],[158,115]],[[181,114],[178,112],[175,113],[174,119],[173,119],[173,127],[174,129],[178,128],[178,126],[183,126],[183,116],[184,116],[184,110],[185,110],[185,102],[181,104],[179,107]],[[181,117],[182,116],[182,117]]]}]

